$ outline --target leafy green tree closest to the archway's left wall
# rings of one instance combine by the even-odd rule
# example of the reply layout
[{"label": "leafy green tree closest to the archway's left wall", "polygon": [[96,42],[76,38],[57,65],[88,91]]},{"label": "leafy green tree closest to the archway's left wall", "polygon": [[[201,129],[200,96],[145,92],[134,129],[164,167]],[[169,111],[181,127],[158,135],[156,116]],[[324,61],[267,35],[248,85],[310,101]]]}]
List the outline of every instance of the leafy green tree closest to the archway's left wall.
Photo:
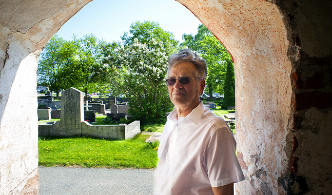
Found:
[{"label": "leafy green tree closest to the archway's left wall", "polygon": [[65,67],[72,61],[75,50],[62,37],[54,35],[41,53],[38,63],[38,84],[56,92],[66,89]]}]

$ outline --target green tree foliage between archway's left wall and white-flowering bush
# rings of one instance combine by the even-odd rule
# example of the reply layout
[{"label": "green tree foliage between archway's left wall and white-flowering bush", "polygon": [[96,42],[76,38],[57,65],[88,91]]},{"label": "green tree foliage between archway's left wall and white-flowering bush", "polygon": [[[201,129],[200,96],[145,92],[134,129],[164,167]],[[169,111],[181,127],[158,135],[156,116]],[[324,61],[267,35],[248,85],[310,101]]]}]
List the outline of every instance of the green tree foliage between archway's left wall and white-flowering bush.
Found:
[{"label": "green tree foliage between archway's left wall and white-flowering bush", "polygon": [[51,91],[75,87],[82,91],[98,91],[108,81],[107,66],[102,64],[104,41],[85,35],[65,41],[54,35],[45,46],[38,64],[38,83]]}]

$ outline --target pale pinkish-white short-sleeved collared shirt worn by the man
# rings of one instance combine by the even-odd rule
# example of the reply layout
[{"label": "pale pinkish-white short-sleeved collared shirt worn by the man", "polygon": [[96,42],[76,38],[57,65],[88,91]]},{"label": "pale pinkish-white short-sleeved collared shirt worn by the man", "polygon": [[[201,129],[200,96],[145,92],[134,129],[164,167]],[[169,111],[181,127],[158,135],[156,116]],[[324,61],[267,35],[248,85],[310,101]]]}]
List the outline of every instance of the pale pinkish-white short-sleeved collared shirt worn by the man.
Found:
[{"label": "pale pinkish-white short-sleeved collared shirt worn by the man", "polygon": [[168,116],[161,136],[155,194],[213,194],[244,180],[236,142],[225,121],[201,102],[184,119]]}]

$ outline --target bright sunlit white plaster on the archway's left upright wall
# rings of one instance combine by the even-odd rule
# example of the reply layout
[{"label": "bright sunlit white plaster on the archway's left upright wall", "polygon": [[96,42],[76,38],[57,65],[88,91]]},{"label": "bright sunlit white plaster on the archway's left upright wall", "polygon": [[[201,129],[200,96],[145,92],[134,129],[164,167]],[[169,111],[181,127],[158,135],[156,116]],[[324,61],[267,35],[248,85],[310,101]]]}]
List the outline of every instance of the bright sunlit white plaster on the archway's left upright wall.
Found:
[{"label": "bright sunlit white plaster on the archway's left upright wall", "polygon": [[[36,69],[38,56],[12,42],[0,77],[1,194],[22,191],[38,166]],[[27,101],[31,100],[31,101]]]}]

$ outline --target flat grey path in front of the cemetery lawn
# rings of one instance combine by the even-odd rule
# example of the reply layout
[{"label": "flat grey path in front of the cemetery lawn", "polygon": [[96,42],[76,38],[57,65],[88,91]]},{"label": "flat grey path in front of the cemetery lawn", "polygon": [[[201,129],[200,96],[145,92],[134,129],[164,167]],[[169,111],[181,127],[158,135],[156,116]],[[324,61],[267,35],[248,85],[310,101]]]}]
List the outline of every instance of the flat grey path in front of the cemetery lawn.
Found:
[{"label": "flat grey path in front of the cemetery lawn", "polygon": [[39,167],[40,195],[153,194],[155,171]]}]

